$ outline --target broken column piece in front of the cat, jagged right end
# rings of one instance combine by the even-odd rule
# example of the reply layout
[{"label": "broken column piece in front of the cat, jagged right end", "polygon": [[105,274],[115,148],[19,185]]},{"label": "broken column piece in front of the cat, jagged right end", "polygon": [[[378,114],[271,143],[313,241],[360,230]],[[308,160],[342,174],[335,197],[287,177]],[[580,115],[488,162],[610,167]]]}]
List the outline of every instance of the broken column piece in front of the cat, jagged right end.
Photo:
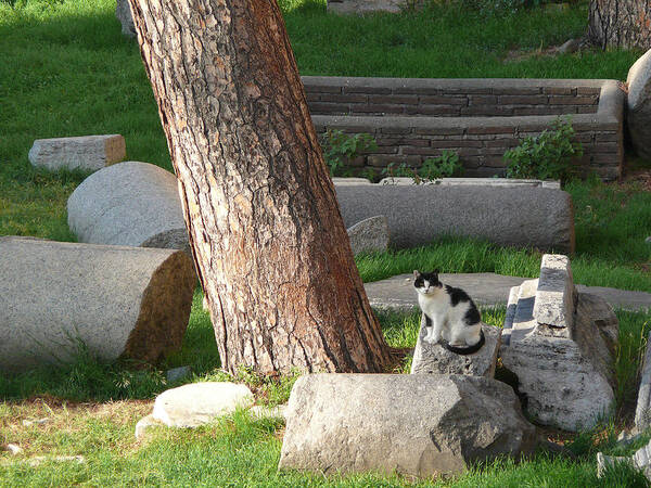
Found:
[{"label": "broken column piece in front of the cat, jagged right end", "polygon": [[438,374],[311,374],[295,383],[280,468],[459,473],[535,446],[510,386]]}]

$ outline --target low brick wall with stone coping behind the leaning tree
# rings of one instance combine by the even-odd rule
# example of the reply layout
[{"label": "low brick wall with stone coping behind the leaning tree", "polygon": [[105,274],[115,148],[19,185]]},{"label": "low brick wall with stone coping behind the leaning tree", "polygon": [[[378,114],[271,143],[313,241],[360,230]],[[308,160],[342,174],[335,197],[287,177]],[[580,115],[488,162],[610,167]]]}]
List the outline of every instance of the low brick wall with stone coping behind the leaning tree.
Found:
[{"label": "low brick wall with stone coping behind the leaning tree", "polygon": [[419,167],[444,150],[464,176],[503,175],[503,153],[572,115],[582,172],[621,176],[624,92],[614,80],[303,77],[317,131],[372,134],[378,149],[353,162],[381,170]]}]

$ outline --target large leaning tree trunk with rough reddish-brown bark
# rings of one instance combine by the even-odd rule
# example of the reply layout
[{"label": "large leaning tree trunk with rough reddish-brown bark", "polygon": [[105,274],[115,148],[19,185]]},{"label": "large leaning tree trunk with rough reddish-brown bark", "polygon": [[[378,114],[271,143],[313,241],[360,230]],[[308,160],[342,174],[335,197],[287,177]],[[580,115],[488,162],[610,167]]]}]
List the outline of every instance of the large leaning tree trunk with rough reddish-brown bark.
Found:
[{"label": "large leaning tree trunk with rough reddish-brown bark", "polygon": [[222,367],[381,372],[276,0],[130,0]]}]

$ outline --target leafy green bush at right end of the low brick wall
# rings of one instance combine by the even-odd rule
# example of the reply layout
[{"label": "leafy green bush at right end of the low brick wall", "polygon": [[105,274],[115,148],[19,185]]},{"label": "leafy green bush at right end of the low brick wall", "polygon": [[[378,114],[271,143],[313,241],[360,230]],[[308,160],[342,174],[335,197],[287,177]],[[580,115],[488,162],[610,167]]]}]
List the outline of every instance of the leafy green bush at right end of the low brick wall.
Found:
[{"label": "leafy green bush at right end of the low brick wall", "polygon": [[571,179],[574,176],[572,158],[583,155],[580,142],[573,141],[574,134],[571,118],[559,117],[551,130],[524,138],[519,146],[505,153],[507,178]]}]

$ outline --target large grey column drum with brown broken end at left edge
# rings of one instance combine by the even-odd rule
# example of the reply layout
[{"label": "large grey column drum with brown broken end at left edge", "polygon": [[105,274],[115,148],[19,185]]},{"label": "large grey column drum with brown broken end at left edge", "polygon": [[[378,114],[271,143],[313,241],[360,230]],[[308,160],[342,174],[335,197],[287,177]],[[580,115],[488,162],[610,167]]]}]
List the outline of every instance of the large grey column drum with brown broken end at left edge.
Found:
[{"label": "large grey column drum with brown broken end at left edge", "polygon": [[154,362],[180,348],[195,275],[184,253],[0,237],[0,369]]}]

